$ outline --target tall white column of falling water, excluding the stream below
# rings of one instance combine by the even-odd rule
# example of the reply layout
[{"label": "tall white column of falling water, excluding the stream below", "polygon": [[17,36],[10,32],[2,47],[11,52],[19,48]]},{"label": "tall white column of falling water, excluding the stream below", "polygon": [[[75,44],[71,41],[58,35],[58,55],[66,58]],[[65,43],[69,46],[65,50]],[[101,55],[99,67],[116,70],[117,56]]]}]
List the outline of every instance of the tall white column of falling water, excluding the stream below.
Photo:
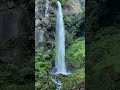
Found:
[{"label": "tall white column of falling water, excluding the stream below", "polygon": [[56,61],[57,74],[67,74],[65,65],[65,30],[61,3],[57,1],[56,18]]}]

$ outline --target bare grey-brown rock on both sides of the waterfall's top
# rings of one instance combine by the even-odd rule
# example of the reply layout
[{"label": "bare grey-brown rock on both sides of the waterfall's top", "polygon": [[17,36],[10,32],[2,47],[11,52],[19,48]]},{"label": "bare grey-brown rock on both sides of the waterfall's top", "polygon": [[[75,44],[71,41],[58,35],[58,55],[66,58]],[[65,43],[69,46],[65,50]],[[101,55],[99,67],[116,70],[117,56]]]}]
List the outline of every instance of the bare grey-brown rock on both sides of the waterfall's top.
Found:
[{"label": "bare grey-brown rock on both sides of the waterfall's top", "polygon": [[[49,2],[48,2],[49,1]],[[46,7],[46,3],[48,3]],[[55,3],[53,5],[52,0],[36,0],[35,1],[35,35],[36,35],[36,48],[43,47],[45,44],[52,45],[54,40],[54,31],[55,31]],[[80,12],[84,12],[84,2],[79,0],[68,0],[66,5],[63,5],[63,14],[64,15],[77,15]],[[48,8],[48,17],[45,16],[46,8]],[[47,35],[46,35],[47,33]],[[43,40],[44,38],[44,40]],[[47,39],[47,41],[45,41]],[[41,41],[43,40],[43,41]],[[52,43],[49,43],[52,42]],[[45,43],[46,42],[46,43]],[[44,43],[44,44],[43,44]],[[42,46],[44,45],[44,46]],[[42,48],[42,49],[43,49]]]}]

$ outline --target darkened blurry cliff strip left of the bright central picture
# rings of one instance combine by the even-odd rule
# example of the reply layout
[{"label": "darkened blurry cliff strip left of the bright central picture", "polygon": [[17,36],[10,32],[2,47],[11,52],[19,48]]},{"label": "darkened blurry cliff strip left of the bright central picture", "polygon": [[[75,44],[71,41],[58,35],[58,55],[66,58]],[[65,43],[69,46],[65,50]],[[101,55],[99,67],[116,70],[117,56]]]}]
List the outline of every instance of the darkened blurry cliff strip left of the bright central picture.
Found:
[{"label": "darkened blurry cliff strip left of the bright central picture", "polygon": [[33,57],[34,0],[0,0],[0,89],[34,82]]}]

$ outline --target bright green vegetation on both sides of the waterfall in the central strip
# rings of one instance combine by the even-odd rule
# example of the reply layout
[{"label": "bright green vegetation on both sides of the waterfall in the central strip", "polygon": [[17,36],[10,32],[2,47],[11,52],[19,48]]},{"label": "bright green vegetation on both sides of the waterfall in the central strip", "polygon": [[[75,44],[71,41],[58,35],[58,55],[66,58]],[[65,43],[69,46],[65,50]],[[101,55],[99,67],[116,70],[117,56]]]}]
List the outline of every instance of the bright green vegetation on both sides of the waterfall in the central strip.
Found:
[{"label": "bright green vegetation on both sides of the waterfall in the central strip", "polygon": [[[51,1],[51,7],[55,8],[57,0]],[[71,0],[60,0],[63,7],[71,5]],[[77,89],[85,80],[85,31],[84,12],[77,14],[64,14],[65,24],[65,46],[66,64],[72,74],[68,76],[59,75],[64,86],[62,90]],[[55,90],[56,85],[51,80],[49,71],[55,63],[55,15],[50,16],[50,20],[42,17],[41,27],[46,28],[46,43],[43,50],[36,49],[35,54],[35,80],[36,90]],[[46,27],[46,24],[47,27]]]}]

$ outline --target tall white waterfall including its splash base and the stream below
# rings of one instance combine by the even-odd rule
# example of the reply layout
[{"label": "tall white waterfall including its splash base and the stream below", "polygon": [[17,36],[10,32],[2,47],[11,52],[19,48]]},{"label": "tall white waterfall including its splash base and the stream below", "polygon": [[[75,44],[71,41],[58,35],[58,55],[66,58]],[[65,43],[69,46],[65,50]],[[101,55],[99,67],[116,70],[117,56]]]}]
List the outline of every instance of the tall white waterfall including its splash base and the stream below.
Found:
[{"label": "tall white waterfall including its splash base and the stream below", "polygon": [[63,21],[62,6],[59,1],[57,1],[57,11],[56,11],[56,60],[55,67],[50,72],[51,75],[55,75],[51,80],[56,84],[56,90],[60,90],[63,87],[63,83],[56,79],[57,75],[68,75],[65,64],[65,29]]}]

